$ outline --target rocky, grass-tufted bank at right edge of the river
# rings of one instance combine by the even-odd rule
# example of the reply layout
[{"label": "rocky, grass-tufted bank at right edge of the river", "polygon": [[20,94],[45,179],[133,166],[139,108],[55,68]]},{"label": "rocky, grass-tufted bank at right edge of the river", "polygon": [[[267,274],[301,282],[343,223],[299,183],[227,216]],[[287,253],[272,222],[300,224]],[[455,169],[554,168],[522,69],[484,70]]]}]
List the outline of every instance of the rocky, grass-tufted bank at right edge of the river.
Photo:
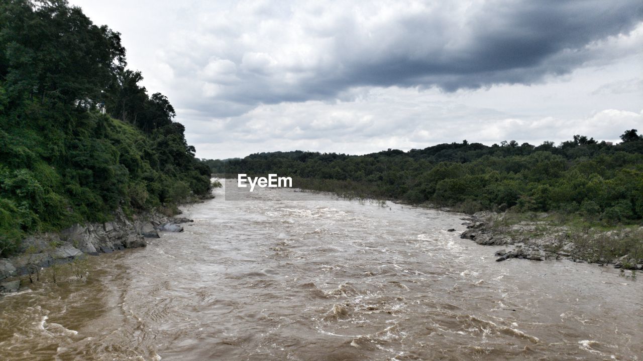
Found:
[{"label": "rocky, grass-tufted bank at right edge of the river", "polygon": [[504,245],[496,261],[510,258],[544,261],[568,259],[643,270],[643,227],[615,227],[608,231],[556,224],[547,214],[516,220],[509,213],[489,211],[466,218],[460,238],[480,245]]}]

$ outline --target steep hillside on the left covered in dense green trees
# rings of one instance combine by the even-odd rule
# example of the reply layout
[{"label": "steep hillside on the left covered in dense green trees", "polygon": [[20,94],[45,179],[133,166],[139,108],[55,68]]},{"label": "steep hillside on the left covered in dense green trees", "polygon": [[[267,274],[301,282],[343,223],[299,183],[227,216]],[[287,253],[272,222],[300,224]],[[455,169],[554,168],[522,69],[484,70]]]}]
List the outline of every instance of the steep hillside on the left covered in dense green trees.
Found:
[{"label": "steep hillside on the left covered in dense green trees", "polygon": [[0,1],[0,254],[26,234],[210,191],[165,96],[120,34],[66,1]]}]

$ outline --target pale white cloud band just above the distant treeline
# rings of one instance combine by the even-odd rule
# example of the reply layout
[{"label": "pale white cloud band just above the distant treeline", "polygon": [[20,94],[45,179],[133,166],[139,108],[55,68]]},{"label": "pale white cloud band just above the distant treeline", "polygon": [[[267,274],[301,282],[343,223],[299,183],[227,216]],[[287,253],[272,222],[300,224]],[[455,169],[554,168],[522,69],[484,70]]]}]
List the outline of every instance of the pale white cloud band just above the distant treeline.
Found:
[{"label": "pale white cloud band just above the distant treeline", "polygon": [[643,124],[643,110],[603,109],[567,118],[465,105],[458,96],[438,98],[437,89],[358,91],[361,96],[354,101],[260,105],[242,116],[195,124],[198,134],[188,136],[204,156],[226,158],[277,150],[366,154],[463,139],[487,145],[503,140],[539,145],[569,140],[574,134],[619,141],[624,130]]}]

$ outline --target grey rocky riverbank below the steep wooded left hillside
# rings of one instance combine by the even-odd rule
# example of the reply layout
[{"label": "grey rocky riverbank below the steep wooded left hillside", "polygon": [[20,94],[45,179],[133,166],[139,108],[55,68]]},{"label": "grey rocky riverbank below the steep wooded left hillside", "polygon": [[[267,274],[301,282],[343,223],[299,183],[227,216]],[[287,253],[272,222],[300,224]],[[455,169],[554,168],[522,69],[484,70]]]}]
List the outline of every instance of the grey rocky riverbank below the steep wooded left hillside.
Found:
[{"label": "grey rocky riverbank below the steep wooded left hillside", "polygon": [[145,247],[146,238],[160,238],[159,231],[181,232],[181,224],[186,222],[192,220],[160,213],[128,218],[117,211],[111,222],[75,224],[60,232],[31,236],[23,241],[21,254],[0,258],[0,292],[17,291],[20,286],[17,276],[34,274],[44,267],[68,263],[85,254],[95,256]]}]

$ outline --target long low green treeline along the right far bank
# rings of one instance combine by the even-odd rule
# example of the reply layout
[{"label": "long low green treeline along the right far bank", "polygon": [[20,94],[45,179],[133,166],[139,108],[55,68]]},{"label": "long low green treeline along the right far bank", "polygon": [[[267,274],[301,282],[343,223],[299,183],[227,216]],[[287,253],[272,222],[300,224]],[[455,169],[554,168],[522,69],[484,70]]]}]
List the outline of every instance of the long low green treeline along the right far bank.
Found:
[{"label": "long low green treeline along the right far bank", "polygon": [[209,160],[213,173],[295,177],[299,188],[430,203],[475,212],[561,211],[606,222],[643,217],[643,137],[610,145],[574,136],[558,146],[515,141],[440,144],[367,155],[274,152]]}]

